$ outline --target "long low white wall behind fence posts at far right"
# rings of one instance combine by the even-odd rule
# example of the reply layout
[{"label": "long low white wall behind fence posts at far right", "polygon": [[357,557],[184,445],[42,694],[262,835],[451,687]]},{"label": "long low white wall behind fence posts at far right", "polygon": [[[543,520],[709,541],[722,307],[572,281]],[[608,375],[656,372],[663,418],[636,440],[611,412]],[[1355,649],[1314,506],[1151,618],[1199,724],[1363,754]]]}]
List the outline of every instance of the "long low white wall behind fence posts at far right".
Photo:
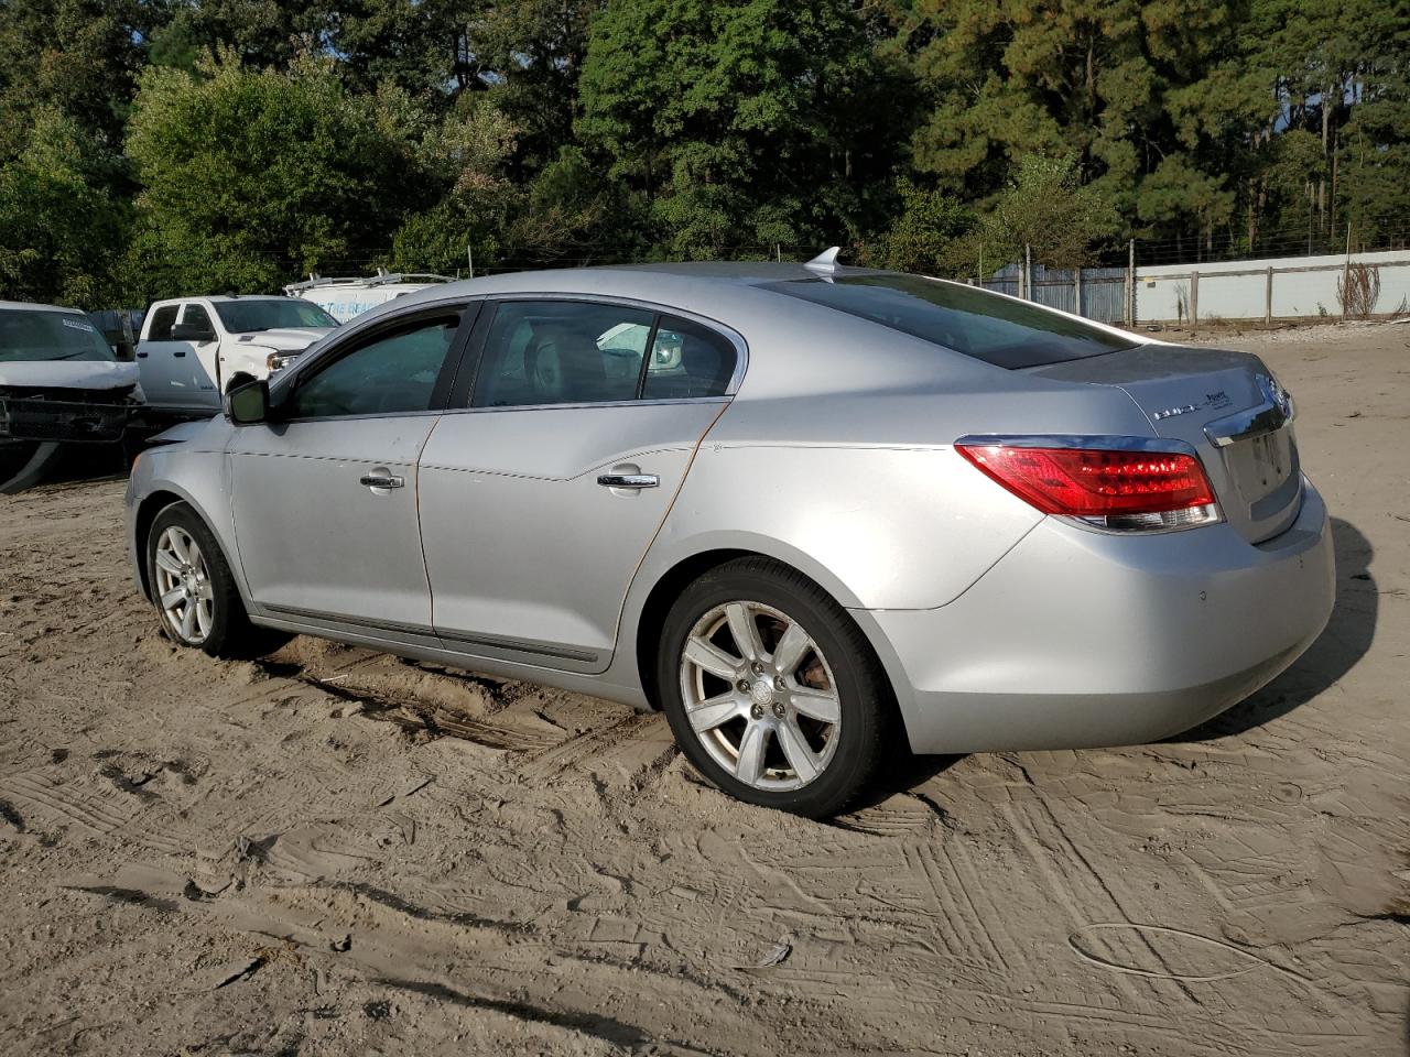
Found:
[{"label": "long low white wall behind fence posts at far right", "polygon": [[[1380,271],[1378,314],[1410,304],[1410,249],[1352,254],[1351,259]],[[1172,323],[1183,317],[1189,321],[1196,272],[1201,320],[1261,320],[1268,313],[1269,269],[1273,275],[1272,319],[1324,314],[1340,319],[1337,280],[1345,266],[1345,255],[1136,266],[1136,320]]]}]

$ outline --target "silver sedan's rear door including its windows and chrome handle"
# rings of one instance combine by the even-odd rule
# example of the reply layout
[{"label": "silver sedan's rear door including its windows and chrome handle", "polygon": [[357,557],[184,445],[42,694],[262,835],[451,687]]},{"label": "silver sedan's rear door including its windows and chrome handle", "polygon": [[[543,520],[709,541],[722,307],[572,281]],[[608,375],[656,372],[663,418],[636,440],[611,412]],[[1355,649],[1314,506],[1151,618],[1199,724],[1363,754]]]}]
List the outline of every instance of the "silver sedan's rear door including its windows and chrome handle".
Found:
[{"label": "silver sedan's rear door including its windows and chrome handle", "polygon": [[436,631],[482,657],[601,671],[743,342],[649,307],[525,299],[486,309],[477,347],[474,390],[420,459]]}]

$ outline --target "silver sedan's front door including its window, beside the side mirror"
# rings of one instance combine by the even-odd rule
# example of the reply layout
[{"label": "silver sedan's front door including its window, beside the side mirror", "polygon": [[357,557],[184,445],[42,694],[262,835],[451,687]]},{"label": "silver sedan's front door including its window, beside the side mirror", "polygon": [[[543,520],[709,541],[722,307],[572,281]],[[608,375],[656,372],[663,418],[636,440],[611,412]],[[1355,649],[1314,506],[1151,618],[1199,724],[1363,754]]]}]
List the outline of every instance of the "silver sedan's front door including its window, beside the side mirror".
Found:
[{"label": "silver sedan's front door including its window, beside the side mirror", "polygon": [[240,562],[268,616],[431,636],[416,461],[458,355],[460,307],[327,350],[300,371],[279,421],[230,445]]}]

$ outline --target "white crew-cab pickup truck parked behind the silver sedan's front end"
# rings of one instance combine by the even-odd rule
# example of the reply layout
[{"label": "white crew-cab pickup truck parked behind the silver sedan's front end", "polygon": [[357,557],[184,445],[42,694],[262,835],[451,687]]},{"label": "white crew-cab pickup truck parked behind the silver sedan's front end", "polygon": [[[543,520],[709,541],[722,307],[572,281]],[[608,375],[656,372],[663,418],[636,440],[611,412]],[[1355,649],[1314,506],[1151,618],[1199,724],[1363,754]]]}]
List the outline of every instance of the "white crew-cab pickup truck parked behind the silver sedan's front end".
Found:
[{"label": "white crew-cab pickup truck parked behind the silver sedan's front end", "polygon": [[137,366],[148,413],[209,416],[234,385],[282,369],[338,321],[300,297],[180,297],[147,310]]}]

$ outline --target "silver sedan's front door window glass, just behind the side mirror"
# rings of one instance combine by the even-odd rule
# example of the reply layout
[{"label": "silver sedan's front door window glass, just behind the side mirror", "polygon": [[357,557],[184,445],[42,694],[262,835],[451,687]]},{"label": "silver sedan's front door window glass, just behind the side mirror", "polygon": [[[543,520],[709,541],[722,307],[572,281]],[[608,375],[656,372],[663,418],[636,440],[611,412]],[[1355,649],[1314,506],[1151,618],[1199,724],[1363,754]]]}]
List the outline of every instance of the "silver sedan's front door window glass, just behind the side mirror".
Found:
[{"label": "silver sedan's front door window glass, just behind the side mirror", "polygon": [[288,416],[329,419],[430,410],[436,379],[458,326],[457,311],[378,334],[300,378]]}]

